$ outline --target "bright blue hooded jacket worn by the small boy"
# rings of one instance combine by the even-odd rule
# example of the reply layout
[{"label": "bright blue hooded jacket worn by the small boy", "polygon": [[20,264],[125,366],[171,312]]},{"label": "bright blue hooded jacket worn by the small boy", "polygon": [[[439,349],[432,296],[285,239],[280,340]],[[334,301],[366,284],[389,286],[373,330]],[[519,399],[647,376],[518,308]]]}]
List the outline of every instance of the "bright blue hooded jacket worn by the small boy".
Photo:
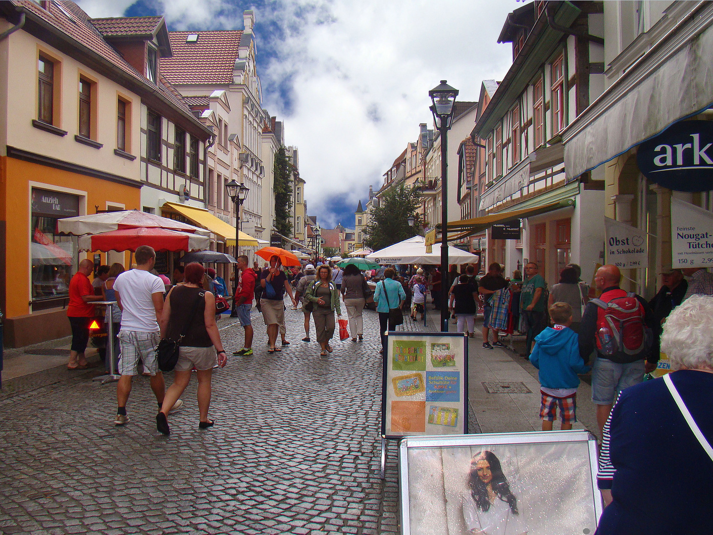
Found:
[{"label": "bright blue hooded jacket worn by the small boy", "polygon": [[592,369],[585,366],[579,354],[578,336],[565,327],[555,330],[547,327],[535,337],[535,348],[530,362],[540,370],[540,384],[545,388],[577,388],[578,373]]}]

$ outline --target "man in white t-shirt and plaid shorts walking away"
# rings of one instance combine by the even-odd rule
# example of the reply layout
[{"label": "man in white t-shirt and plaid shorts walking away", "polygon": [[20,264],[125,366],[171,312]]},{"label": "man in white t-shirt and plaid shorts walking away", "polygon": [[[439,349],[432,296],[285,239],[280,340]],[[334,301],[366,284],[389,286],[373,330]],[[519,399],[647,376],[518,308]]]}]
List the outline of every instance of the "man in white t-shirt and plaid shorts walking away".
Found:
[{"label": "man in white t-shirt and plaid shorts walking away", "polygon": [[[150,384],[158,407],[163,404],[165,383],[163,373],[158,370],[156,346],[160,341],[160,320],[163,312],[163,280],[153,275],[150,270],[156,263],[156,253],[148,245],[140,245],[135,253],[136,267],[116,277],[114,290],[121,309],[121,330],[119,344],[119,374],[116,387],[118,410],[114,423],[123,425],[129,421],[126,415],[126,402],[131,392],[131,379],[138,374],[138,361],[143,362],[143,369],[150,374]],[[178,409],[183,402],[179,399],[173,406]]]}]

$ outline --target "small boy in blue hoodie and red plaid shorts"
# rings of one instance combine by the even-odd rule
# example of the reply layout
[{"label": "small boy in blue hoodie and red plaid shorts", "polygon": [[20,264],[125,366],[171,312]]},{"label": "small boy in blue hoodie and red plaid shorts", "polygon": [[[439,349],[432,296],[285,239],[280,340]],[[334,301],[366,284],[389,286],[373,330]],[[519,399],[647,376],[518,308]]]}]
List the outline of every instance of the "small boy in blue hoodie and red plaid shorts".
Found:
[{"label": "small boy in blue hoodie and red plaid shorts", "polygon": [[535,337],[535,348],[530,362],[540,370],[540,418],[542,430],[552,431],[555,411],[560,407],[562,429],[572,429],[577,421],[578,373],[592,369],[585,366],[579,354],[578,335],[572,325],[572,307],[565,302],[555,302],[550,307],[552,327],[547,327]]}]

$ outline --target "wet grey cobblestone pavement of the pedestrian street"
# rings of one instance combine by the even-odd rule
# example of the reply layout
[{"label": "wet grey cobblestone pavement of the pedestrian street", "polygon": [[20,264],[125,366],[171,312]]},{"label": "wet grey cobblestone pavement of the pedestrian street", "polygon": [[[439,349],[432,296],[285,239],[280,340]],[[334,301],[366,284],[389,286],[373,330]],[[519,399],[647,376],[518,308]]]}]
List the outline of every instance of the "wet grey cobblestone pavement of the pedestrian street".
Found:
[{"label": "wet grey cobblestone pavement of the pedestrian street", "polygon": [[[156,432],[146,377],[134,379],[123,427],[113,424],[116,384],[91,382],[96,371],[60,367],[6,382],[0,532],[399,531],[395,442],[379,478],[376,312],[364,311],[364,342],[337,334],[329,357],[319,357],[314,325],[312,342],[300,341],[302,312],[286,314],[292,343],[272,355],[253,309],[255,356],[229,357],[215,372],[211,429],[198,429],[195,379],[170,415],[170,437]],[[242,347],[242,328],[221,328],[227,349]]]}]

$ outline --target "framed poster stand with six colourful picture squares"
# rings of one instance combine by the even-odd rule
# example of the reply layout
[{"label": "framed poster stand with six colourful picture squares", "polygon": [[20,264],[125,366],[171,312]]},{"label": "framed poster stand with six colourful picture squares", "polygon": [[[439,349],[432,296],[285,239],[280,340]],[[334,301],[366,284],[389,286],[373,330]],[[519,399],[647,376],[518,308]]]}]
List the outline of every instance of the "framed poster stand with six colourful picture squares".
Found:
[{"label": "framed poster stand with six colourful picture squares", "polygon": [[381,436],[468,432],[468,343],[463,332],[390,331]]}]

